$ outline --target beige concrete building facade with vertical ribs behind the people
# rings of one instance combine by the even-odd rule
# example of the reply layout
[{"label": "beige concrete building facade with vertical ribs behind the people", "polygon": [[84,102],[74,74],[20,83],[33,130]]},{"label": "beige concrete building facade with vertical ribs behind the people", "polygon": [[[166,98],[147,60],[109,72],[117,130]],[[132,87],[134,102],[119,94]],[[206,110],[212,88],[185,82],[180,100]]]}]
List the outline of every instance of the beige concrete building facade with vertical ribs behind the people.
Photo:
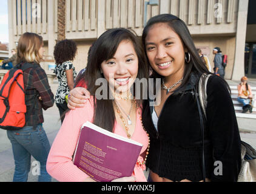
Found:
[{"label": "beige concrete building facade with vertical ribs behind the people", "polygon": [[[226,79],[244,76],[244,47],[248,30],[249,0],[66,0],[66,38],[78,45],[74,61],[76,69],[86,67],[87,52],[92,42],[110,28],[132,28],[141,36],[144,20],[161,13],[171,13],[183,19],[195,45],[207,55],[213,67],[214,47],[228,56]],[[9,0],[8,24],[10,49],[16,46],[24,32],[35,32],[44,39],[47,60],[54,63],[58,0]],[[145,11],[147,10],[147,12]],[[251,27],[253,28],[253,27]],[[50,72],[47,72],[50,73]]]}]

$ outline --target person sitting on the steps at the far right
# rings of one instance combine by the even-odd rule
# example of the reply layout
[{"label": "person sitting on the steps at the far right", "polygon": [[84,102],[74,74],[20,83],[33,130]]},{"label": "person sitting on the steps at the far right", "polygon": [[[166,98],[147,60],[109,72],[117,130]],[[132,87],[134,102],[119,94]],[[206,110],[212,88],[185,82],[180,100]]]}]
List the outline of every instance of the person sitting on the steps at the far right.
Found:
[{"label": "person sitting on the steps at the far right", "polygon": [[252,89],[251,85],[249,85],[247,81],[248,78],[246,76],[243,76],[243,78],[241,78],[240,84],[237,85],[237,101],[243,104],[242,113],[246,113],[248,111],[252,113],[252,105],[250,104],[250,101],[252,99]]}]

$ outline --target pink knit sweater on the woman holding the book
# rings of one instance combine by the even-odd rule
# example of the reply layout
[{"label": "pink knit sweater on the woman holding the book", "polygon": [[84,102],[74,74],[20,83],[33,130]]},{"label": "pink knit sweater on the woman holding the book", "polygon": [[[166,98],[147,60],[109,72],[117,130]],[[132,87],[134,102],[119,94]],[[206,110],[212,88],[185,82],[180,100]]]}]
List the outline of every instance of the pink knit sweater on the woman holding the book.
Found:
[{"label": "pink knit sweater on the woman holding the book", "polygon": [[[86,121],[93,122],[93,110],[93,97],[91,96],[84,107],[66,113],[61,129],[53,141],[46,166],[47,172],[58,181],[84,181],[88,177],[86,173],[73,164],[72,156],[75,152],[81,126]],[[113,132],[127,137],[125,130],[117,122],[115,122]],[[136,129],[132,139],[143,144],[141,153],[147,149],[149,141],[141,125],[138,112],[136,113]],[[143,158],[139,156],[138,160],[143,161]],[[142,169],[141,166],[135,166],[133,176],[135,176],[136,181],[146,181],[143,170],[144,168]]]}]

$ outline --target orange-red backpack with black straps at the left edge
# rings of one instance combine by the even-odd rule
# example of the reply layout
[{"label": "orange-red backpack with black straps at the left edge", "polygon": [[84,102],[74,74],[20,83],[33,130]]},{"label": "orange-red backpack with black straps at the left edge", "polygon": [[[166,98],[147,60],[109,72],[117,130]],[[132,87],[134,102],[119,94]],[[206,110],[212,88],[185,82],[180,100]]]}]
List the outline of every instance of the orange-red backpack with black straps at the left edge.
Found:
[{"label": "orange-red backpack with black straps at the left edge", "polygon": [[33,67],[32,64],[22,64],[10,69],[0,85],[0,128],[6,130],[21,129],[25,125],[25,91],[23,72]]}]

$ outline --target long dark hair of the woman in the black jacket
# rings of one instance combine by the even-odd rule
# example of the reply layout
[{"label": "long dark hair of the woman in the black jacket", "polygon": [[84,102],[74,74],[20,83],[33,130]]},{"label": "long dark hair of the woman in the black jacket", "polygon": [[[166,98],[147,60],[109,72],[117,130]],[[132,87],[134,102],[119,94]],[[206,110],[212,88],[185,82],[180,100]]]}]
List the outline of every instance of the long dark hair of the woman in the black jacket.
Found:
[{"label": "long dark hair of the woman in the black jacket", "polygon": [[[195,47],[192,36],[190,35],[189,29],[187,28],[187,25],[184,23],[184,21],[182,21],[180,18],[174,15],[161,14],[149,19],[149,21],[146,24],[146,27],[144,27],[143,35],[142,35],[142,43],[143,43],[145,52],[146,52],[146,44],[145,44],[146,36],[149,33],[149,30],[152,27],[152,25],[157,23],[165,23],[169,25],[169,27],[172,28],[172,30],[175,33],[177,33],[177,35],[180,37],[181,41],[183,42],[184,48],[186,48],[187,53],[190,54],[190,61],[187,63],[185,60],[186,65],[184,69],[183,82],[181,82],[180,86],[177,87],[174,93],[183,89],[183,86],[186,85],[187,82],[189,81],[189,78],[192,72],[195,73],[198,79],[200,78],[200,75],[202,75],[203,73],[212,74],[207,70],[206,65],[204,65],[203,61],[200,59],[200,56],[198,55],[197,49]],[[147,63],[150,64],[148,58],[147,58]],[[155,70],[152,69],[152,78],[163,78],[163,76],[159,75],[157,72],[155,72]],[[226,83],[226,81],[224,82]],[[204,79],[203,79],[203,83],[204,83]],[[227,83],[226,85],[228,87]]]}]

